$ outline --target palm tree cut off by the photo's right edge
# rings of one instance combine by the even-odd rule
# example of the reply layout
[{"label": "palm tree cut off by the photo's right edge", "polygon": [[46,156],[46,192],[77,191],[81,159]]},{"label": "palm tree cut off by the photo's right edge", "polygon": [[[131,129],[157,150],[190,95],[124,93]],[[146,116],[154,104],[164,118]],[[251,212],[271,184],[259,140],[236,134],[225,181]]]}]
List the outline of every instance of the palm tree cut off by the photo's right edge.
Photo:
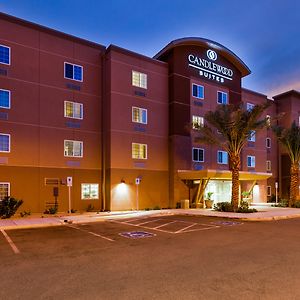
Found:
[{"label": "palm tree cut off by the photo's right edge", "polygon": [[291,159],[289,197],[289,207],[291,207],[295,204],[299,189],[300,127],[294,121],[289,128],[273,126],[272,129]]}]

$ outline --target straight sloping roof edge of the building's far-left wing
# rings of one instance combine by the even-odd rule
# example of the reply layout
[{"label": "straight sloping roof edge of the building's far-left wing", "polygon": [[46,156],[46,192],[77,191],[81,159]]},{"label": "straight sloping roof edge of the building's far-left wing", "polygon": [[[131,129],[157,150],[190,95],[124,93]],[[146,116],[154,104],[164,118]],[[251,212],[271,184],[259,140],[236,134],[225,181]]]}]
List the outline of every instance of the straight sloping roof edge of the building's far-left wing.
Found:
[{"label": "straight sloping roof edge of the building's far-left wing", "polygon": [[43,25],[40,25],[40,24],[37,24],[37,23],[33,23],[33,22],[30,22],[30,21],[12,16],[12,15],[8,15],[8,14],[5,14],[3,12],[0,12],[0,19],[6,20],[6,21],[9,21],[9,22],[12,22],[12,23],[20,24],[20,25],[23,25],[23,26],[25,25],[27,27],[30,27],[30,28],[33,28],[33,29],[36,29],[36,30],[40,30],[40,31],[43,31],[43,32],[46,32],[46,33],[55,34],[59,37],[67,38],[67,39],[72,40],[74,42],[85,44],[89,47],[93,47],[93,48],[96,48],[96,49],[99,49],[99,50],[102,50],[102,51],[104,51],[105,48],[106,48],[105,46],[103,46],[101,44],[91,42],[89,40],[79,38],[77,36],[74,36],[74,35],[71,35],[71,34],[68,34],[68,33],[64,33],[62,31],[52,29],[52,28],[49,28],[49,27],[46,27],[46,26],[43,26]]}]

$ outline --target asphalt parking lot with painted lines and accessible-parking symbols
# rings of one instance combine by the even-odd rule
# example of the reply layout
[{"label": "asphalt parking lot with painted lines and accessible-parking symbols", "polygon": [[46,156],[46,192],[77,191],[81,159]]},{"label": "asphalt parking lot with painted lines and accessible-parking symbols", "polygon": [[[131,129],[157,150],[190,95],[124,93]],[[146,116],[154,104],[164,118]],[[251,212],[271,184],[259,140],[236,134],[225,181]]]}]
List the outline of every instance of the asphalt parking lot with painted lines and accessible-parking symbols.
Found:
[{"label": "asphalt parking lot with painted lines and accessible-parking symbols", "polygon": [[1,299],[297,299],[300,220],[118,218],[1,232]]}]

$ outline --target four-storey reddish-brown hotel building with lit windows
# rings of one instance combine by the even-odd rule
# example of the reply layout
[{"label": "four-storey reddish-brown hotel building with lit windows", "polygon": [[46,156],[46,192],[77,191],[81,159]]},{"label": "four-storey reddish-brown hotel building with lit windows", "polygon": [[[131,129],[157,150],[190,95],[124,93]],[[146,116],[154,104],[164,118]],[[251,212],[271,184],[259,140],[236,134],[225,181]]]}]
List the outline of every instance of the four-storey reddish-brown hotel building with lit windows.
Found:
[{"label": "four-storey reddish-brown hotel building with lit windows", "polygon": [[[284,111],[285,125],[299,119],[300,93],[268,99],[242,88],[248,74],[207,39],[178,39],[150,58],[0,13],[0,199],[31,212],[55,201],[59,211],[176,207],[208,191],[229,201],[227,153],[196,143],[190,125],[240,102],[272,102],[266,116]],[[253,133],[241,191],[266,202],[278,182],[285,196],[288,165],[270,129]]]}]

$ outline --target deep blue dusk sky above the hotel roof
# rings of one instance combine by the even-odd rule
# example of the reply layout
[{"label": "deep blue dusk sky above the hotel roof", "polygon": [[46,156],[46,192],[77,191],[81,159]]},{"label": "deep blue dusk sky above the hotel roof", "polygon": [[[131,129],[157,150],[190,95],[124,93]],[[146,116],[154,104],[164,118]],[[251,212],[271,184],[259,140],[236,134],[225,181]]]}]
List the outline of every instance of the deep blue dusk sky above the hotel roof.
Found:
[{"label": "deep blue dusk sky above the hotel roof", "polygon": [[245,88],[270,97],[300,90],[297,0],[0,0],[0,10],[150,57],[177,38],[208,38],[251,69]]}]

